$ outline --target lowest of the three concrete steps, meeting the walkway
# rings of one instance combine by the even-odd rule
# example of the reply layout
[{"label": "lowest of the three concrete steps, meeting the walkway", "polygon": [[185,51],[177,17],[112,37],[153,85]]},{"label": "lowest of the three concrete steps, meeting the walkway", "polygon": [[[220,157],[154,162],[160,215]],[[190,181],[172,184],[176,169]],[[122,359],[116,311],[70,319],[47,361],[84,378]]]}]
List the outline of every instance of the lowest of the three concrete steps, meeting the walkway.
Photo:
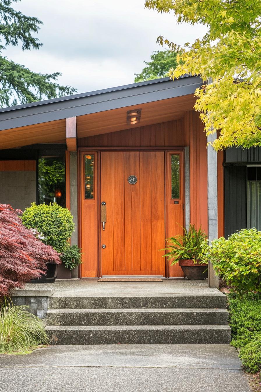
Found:
[{"label": "lowest of the three concrete steps, meeting the walkway", "polygon": [[52,345],[230,343],[228,325],[47,326]]}]

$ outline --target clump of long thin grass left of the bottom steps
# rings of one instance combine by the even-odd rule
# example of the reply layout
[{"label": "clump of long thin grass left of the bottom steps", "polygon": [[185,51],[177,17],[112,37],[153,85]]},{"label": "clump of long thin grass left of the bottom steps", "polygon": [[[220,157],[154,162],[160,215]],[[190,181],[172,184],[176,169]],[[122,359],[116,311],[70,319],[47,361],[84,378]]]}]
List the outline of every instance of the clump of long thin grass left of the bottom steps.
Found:
[{"label": "clump of long thin grass left of the bottom steps", "polygon": [[0,354],[26,354],[48,342],[42,321],[7,300],[0,305]]}]

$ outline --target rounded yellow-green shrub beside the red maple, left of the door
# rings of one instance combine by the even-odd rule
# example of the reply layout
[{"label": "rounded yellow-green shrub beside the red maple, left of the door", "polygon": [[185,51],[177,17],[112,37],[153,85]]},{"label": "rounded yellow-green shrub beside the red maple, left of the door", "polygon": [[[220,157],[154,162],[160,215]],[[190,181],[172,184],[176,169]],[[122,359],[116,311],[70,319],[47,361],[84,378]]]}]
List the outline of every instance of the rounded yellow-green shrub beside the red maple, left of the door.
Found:
[{"label": "rounded yellow-green shrub beside the red maple, left of the door", "polygon": [[44,238],[41,240],[51,245],[58,252],[63,252],[74,230],[73,217],[67,208],[53,203],[50,205],[32,203],[22,216],[23,224],[28,229],[37,229]]}]

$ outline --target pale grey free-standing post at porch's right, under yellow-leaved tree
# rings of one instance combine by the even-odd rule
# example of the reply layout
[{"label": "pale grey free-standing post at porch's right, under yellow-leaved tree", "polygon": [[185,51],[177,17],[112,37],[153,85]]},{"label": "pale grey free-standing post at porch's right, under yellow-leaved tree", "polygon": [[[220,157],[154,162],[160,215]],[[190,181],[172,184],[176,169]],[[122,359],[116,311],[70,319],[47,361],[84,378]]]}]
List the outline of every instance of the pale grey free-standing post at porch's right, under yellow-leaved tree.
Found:
[{"label": "pale grey free-standing post at porch's right, under yellow-leaved tree", "polygon": [[[216,132],[207,137],[207,142],[216,139]],[[217,153],[211,145],[207,146],[207,209],[209,243],[218,238],[218,172]],[[209,287],[218,288],[218,275],[215,274],[212,264],[209,262]]]}]

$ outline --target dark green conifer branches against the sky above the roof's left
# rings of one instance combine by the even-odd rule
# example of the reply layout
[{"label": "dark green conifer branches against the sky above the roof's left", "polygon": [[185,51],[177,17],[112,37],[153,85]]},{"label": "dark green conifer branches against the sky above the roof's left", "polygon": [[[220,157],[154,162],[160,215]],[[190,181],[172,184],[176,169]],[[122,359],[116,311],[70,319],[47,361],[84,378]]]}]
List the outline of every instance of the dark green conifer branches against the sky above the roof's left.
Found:
[{"label": "dark green conifer branches against the sky above the roof's left", "polygon": [[76,89],[56,82],[61,75],[59,72],[36,73],[2,56],[8,45],[22,44],[23,51],[40,49],[43,45],[33,36],[40,30],[41,20],[14,10],[11,4],[19,1],[21,0],[0,0],[0,107],[76,92]]}]

